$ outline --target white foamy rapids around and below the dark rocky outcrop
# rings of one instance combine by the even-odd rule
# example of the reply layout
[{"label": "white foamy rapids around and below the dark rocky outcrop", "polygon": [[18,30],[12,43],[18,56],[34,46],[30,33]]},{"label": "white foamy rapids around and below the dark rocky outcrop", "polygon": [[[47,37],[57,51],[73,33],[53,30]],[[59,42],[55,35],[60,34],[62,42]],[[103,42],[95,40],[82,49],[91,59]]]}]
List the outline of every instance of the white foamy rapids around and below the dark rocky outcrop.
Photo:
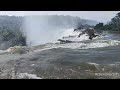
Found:
[{"label": "white foamy rapids around and below the dark rocky outcrop", "polygon": [[[93,40],[89,40],[87,34],[81,35],[78,37],[80,32],[74,32],[73,29],[68,29],[64,32],[63,40],[70,40],[73,43],[65,43],[59,44],[58,41],[54,41],[51,44],[45,44],[44,48],[41,50],[47,50],[52,48],[70,48],[70,49],[90,49],[90,48],[101,48],[101,47],[109,47],[116,46],[120,44],[118,40],[105,39],[106,37],[110,37],[109,34],[102,34],[100,37],[95,37]],[[57,44],[56,44],[57,43]]]}]

